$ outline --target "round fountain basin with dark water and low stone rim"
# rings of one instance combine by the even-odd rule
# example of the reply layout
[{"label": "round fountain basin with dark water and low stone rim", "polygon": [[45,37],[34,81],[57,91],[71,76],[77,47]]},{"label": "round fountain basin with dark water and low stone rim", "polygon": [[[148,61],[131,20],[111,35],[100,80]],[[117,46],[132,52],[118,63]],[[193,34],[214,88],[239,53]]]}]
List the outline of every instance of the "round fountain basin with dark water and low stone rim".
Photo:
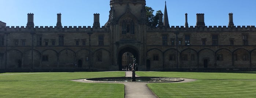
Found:
[{"label": "round fountain basin with dark water and low stone rim", "polygon": [[[168,77],[136,77],[136,82],[145,82],[145,83],[157,83],[157,82],[180,82],[183,81],[182,78],[168,78]],[[108,77],[108,78],[89,78],[84,79],[86,82],[132,82],[131,77]]]}]

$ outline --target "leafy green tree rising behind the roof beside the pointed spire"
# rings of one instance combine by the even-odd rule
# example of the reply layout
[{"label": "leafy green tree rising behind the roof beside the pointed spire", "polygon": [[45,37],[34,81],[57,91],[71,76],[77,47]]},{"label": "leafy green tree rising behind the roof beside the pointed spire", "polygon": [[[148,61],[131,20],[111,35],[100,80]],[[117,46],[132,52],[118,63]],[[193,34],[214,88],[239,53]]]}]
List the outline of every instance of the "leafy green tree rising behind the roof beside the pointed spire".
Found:
[{"label": "leafy green tree rising behind the roof beside the pointed spire", "polygon": [[146,10],[146,18],[147,18],[147,26],[156,27],[159,23],[159,14],[162,14],[161,10],[156,11],[156,15],[153,15],[153,10],[151,7],[145,6]]}]

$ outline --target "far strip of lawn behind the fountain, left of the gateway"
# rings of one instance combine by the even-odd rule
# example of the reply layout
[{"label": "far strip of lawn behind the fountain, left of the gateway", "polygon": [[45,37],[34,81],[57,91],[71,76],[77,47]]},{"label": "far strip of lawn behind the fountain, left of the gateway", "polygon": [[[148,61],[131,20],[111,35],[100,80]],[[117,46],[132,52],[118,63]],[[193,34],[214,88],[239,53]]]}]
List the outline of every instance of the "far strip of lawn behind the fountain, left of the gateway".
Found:
[{"label": "far strip of lawn behind the fountain, left of the gateway", "polygon": [[[9,75],[6,75],[9,74]],[[71,80],[101,77],[125,76],[125,72],[31,72],[31,73],[0,73],[0,81],[18,80]]]}]

